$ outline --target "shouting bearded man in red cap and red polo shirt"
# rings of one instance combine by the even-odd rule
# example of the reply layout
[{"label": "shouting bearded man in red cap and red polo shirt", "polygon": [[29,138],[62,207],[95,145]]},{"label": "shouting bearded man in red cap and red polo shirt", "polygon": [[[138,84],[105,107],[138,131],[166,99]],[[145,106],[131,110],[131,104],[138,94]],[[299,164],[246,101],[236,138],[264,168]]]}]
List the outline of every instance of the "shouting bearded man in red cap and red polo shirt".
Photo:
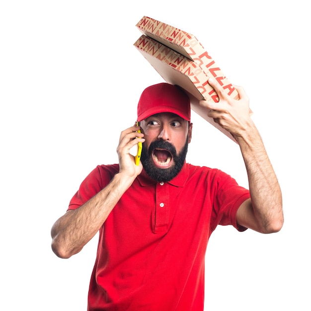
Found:
[{"label": "shouting bearded man in red cap and red polo shirt", "polygon": [[[89,311],[202,311],[205,251],[217,225],[260,233],[282,228],[281,190],[248,97],[236,86],[234,100],[209,83],[220,101],[200,104],[239,144],[249,190],[218,169],[186,163],[188,96],[167,83],[147,87],[138,103],[140,126],[120,135],[119,164],[98,165],[52,227],[52,249],[61,258],[99,231]],[[139,142],[136,165],[130,150]]]}]

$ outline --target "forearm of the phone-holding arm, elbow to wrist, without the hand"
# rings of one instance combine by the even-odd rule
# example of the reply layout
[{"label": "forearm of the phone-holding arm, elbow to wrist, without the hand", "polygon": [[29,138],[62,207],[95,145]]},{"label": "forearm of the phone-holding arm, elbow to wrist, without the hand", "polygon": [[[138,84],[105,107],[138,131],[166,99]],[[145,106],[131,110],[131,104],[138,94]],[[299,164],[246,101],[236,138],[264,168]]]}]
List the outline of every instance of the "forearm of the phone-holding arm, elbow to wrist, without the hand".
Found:
[{"label": "forearm of the phone-holding arm, elbow to wrist, without the hand", "polygon": [[61,217],[51,231],[52,249],[56,255],[69,258],[78,253],[98,232],[132,182],[132,179],[116,174],[111,182],[89,201]]}]

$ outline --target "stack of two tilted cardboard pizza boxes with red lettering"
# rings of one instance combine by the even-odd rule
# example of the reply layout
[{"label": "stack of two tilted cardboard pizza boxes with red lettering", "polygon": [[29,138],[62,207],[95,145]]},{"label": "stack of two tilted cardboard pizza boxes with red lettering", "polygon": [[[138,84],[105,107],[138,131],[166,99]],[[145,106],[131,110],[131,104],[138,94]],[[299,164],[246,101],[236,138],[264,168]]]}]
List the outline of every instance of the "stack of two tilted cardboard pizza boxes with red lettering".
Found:
[{"label": "stack of two tilted cardboard pizza boxes with red lettering", "polygon": [[231,97],[238,99],[238,93],[197,38],[147,16],[136,26],[143,34],[134,46],[166,82],[177,84],[188,93],[192,110],[234,141],[232,135],[208,117],[206,109],[199,105],[204,98],[219,101],[208,78],[218,81]]}]

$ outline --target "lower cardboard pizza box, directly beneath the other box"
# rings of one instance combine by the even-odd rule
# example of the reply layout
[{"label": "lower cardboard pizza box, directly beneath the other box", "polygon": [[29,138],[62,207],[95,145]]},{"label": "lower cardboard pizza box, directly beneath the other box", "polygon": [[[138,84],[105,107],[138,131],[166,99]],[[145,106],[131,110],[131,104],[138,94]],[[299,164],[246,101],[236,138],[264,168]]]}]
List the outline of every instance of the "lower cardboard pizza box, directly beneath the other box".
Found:
[{"label": "lower cardboard pizza box, directly beneath the other box", "polygon": [[167,83],[177,84],[187,92],[193,111],[235,141],[233,136],[213,118],[208,117],[206,109],[199,105],[204,96],[213,101],[218,101],[219,98],[214,88],[208,84],[207,74],[197,63],[145,35],[142,35],[134,46]]}]

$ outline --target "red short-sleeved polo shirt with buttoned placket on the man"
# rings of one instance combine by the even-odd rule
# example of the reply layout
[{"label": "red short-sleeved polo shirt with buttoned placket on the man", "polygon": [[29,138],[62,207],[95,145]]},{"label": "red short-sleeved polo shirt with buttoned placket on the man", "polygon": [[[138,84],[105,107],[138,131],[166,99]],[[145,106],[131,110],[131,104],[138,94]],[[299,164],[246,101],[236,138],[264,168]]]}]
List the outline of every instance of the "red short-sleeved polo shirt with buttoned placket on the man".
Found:
[{"label": "red short-sleeved polo shirt with buttoned placket on the man", "polygon": [[[118,164],[98,165],[69,209],[103,189]],[[145,170],[123,194],[99,231],[88,311],[202,311],[208,239],[233,225],[249,191],[224,172],[185,163],[170,182]]]}]

